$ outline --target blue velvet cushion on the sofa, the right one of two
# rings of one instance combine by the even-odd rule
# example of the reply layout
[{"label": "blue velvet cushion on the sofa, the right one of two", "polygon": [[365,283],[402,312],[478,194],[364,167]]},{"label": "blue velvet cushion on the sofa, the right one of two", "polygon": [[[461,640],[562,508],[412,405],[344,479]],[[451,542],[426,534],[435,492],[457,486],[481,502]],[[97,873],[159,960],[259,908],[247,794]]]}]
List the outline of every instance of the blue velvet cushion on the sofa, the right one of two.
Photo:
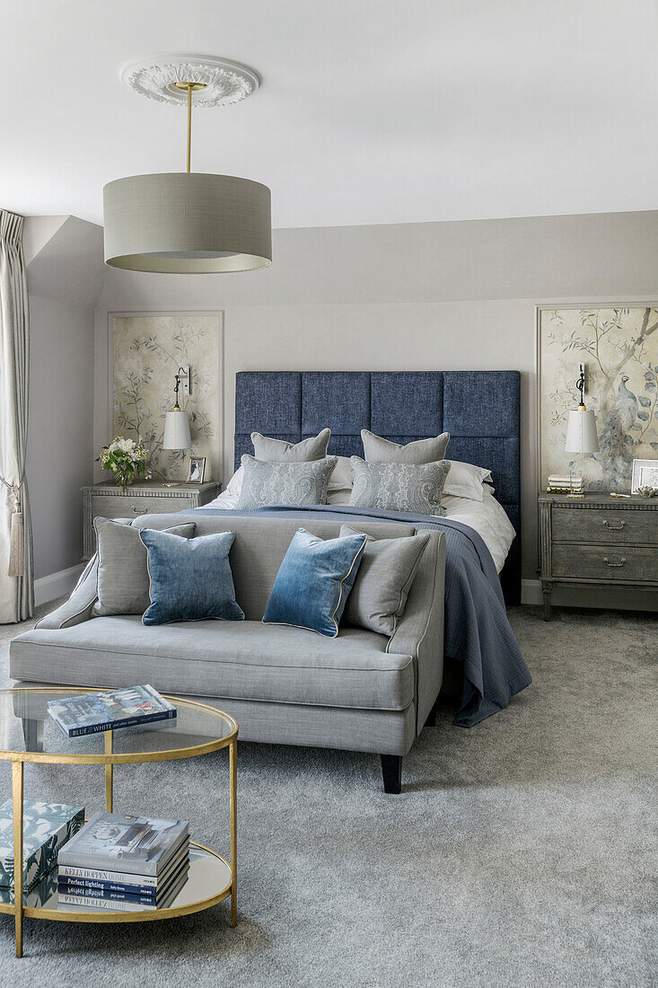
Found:
[{"label": "blue velvet cushion on the sofa, the right one of two", "polygon": [[279,567],[263,622],[292,624],[335,638],[367,537],[347,535],[325,541],[297,529]]}]

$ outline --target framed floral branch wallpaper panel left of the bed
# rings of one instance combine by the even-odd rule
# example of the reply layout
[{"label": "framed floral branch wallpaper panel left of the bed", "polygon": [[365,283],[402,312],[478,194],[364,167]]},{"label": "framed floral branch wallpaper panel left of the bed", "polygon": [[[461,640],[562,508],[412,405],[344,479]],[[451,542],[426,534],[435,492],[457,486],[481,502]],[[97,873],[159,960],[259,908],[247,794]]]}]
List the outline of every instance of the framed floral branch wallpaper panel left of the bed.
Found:
[{"label": "framed floral branch wallpaper panel left of the bed", "polygon": [[[220,317],[114,316],[114,434],[141,437],[153,479],[185,480],[188,458],[206,456],[206,480],[219,475]],[[192,395],[179,401],[190,417],[191,450],[163,450],[165,412],[174,407],[174,375],[192,366]]]}]

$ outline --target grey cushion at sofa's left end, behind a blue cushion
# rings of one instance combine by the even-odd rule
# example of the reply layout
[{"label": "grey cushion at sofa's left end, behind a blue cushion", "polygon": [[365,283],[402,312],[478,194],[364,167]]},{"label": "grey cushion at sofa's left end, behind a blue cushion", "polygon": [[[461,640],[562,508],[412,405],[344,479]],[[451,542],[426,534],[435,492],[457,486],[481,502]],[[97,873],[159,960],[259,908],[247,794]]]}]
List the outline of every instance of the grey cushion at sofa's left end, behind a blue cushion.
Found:
[{"label": "grey cushion at sofa's left end, behind a blue cushion", "polygon": [[[150,607],[147,553],[139,529],[130,519],[95,518],[98,553],[98,601],[95,617],[143,615]],[[171,535],[191,538],[196,522],[165,529]]]}]

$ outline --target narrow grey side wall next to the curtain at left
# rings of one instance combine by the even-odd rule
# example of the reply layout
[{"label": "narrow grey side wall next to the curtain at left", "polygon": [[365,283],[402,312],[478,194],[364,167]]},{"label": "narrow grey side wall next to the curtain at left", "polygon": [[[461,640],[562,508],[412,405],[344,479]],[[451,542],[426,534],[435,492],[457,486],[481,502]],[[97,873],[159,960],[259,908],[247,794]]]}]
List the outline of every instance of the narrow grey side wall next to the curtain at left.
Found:
[{"label": "narrow grey side wall next to the curtain at left", "polygon": [[[27,476],[39,580],[76,566],[82,556],[80,487],[93,478],[94,307],[105,277],[103,231],[72,216],[29,217],[25,249],[31,332]],[[38,592],[38,600],[65,590],[65,583],[55,582],[49,592]]]}]

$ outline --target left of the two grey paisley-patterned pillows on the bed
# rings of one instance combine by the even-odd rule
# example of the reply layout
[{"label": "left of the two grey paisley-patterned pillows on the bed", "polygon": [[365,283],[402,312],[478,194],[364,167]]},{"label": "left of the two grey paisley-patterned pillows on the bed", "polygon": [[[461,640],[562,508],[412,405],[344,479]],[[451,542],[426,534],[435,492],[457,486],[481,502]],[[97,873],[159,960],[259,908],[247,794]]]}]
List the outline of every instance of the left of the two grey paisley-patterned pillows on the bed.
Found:
[{"label": "left of the two grey paisley-patterned pillows on the bed", "polygon": [[242,488],[235,507],[326,504],[329,478],[337,462],[338,456],[325,456],[310,463],[271,463],[245,453],[241,459]]}]

